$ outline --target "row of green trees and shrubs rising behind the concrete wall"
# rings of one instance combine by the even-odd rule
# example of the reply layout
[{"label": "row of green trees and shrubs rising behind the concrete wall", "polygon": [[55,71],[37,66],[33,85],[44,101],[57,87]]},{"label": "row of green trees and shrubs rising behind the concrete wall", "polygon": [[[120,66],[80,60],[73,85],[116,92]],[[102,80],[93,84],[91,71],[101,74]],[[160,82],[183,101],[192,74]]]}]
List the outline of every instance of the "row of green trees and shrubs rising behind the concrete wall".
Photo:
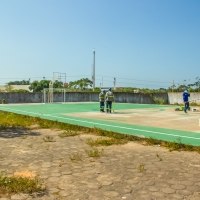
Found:
[{"label": "row of green trees and shrubs rising behind the concrete wall", "polygon": [[[185,88],[189,90],[189,92],[199,92],[200,91],[200,78],[197,77],[194,83],[190,84],[180,84],[180,85],[172,85],[165,88],[160,89],[149,89],[149,88],[134,88],[134,87],[121,87],[116,88],[115,92],[139,92],[139,93],[162,93],[162,92],[183,92]],[[29,90],[33,92],[42,92],[45,88],[49,88],[49,83],[51,80],[41,80],[41,81],[33,81]],[[27,90],[14,90],[12,85],[29,85],[29,80],[22,81],[10,81],[6,84],[5,92],[29,92]],[[76,81],[71,81],[69,84],[63,83],[62,81],[56,80],[53,84],[53,88],[65,88],[67,91],[93,91],[93,82],[88,78],[82,78]],[[100,92],[100,88],[95,88],[95,92]],[[2,90],[0,92],[3,92]]]}]

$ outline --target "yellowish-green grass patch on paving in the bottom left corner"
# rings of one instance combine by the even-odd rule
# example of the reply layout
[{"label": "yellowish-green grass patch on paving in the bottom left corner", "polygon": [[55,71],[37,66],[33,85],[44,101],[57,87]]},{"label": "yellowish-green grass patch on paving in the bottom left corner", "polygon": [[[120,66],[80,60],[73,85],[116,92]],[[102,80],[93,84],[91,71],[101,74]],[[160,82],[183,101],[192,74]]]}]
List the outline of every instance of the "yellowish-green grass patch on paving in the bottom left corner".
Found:
[{"label": "yellowish-green grass patch on paving in the bottom left corner", "polygon": [[0,197],[10,197],[13,194],[25,193],[32,194],[35,192],[44,192],[43,181],[38,177],[8,177],[0,174]]}]

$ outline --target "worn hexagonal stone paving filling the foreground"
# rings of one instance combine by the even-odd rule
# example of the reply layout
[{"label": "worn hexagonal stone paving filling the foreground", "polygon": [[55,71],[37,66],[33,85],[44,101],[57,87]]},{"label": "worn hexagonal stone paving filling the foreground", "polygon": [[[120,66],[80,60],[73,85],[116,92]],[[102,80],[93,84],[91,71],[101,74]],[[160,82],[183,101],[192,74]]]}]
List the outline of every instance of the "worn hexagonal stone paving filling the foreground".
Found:
[{"label": "worn hexagonal stone paving filling the foreground", "polygon": [[[39,175],[47,194],[13,195],[11,200],[199,200],[200,155],[169,152],[129,142],[88,157],[85,143],[94,135],[60,138],[50,129],[0,131],[0,171]],[[52,136],[54,142],[45,142]],[[81,160],[70,159],[81,155]],[[6,198],[0,198],[6,200]]]}]

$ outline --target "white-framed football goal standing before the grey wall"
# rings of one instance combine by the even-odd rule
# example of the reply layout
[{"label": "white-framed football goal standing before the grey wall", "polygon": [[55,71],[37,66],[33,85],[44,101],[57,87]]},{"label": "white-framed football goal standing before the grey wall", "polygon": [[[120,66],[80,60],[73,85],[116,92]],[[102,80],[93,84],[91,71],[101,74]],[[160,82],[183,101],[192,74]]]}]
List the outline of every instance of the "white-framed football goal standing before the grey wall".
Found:
[{"label": "white-framed football goal standing before the grey wall", "polygon": [[43,103],[65,103],[66,89],[64,88],[44,88]]}]

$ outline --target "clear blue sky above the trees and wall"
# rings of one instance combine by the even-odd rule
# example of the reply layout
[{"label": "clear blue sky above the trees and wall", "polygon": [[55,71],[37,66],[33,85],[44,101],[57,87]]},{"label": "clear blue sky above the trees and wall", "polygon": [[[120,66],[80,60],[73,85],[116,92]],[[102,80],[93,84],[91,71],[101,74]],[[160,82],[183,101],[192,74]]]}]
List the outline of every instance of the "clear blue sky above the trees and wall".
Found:
[{"label": "clear blue sky above the trees and wall", "polygon": [[[200,77],[199,0],[0,0],[0,85],[90,78],[168,88]],[[103,78],[102,78],[103,77]]]}]

